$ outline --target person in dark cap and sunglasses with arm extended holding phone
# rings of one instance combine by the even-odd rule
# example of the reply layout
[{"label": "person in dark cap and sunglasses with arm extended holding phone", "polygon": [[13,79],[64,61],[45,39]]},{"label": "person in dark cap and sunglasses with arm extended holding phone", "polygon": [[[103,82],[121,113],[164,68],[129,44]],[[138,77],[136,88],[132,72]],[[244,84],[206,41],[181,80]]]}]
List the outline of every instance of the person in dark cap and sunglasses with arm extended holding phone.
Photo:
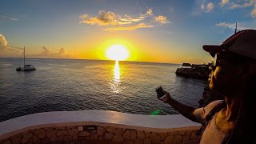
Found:
[{"label": "person in dark cap and sunglasses with arm extended holding phone", "polygon": [[195,109],[186,106],[166,92],[162,101],[194,122],[202,123],[198,130],[200,143],[256,143],[254,117],[254,87],[256,86],[256,30],[242,30],[220,46],[203,46],[214,56],[210,66],[209,87],[225,100],[210,102]]}]

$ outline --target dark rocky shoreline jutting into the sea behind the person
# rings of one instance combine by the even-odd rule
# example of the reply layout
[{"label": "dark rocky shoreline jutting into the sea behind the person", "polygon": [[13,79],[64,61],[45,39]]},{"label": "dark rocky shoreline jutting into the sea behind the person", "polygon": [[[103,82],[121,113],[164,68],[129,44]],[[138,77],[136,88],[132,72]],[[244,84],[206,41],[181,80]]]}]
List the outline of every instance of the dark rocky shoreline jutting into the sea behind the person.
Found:
[{"label": "dark rocky shoreline jutting into the sea behind the person", "polygon": [[[195,78],[207,81],[210,74],[209,66],[210,63],[203,65],[191,65],[190,63],[183,63],[181,67],[178,67],[175,74],[184,78]],[[202,93],[202,99],[198,101],[198,104],[199,107],[203,107],[208,103],[219,99],[224,99],[224,97],[220,94],[217,94],[213,90],[210,90],[207,82],[206,87]]]}]

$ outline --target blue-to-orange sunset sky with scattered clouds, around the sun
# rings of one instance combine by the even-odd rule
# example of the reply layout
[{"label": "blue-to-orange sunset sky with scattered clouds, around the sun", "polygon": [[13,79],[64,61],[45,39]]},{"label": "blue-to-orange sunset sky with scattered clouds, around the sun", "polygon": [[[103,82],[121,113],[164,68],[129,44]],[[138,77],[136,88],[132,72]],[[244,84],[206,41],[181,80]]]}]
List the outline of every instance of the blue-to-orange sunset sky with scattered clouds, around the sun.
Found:
[{"label": "blue-to-orange sunset sky with scattered clouds, around the sun", "polygon": [[210,62],[202,45],[255,20],[256,0],[2,0],[0,57],[109,59],[122,45],[127,61]]}]

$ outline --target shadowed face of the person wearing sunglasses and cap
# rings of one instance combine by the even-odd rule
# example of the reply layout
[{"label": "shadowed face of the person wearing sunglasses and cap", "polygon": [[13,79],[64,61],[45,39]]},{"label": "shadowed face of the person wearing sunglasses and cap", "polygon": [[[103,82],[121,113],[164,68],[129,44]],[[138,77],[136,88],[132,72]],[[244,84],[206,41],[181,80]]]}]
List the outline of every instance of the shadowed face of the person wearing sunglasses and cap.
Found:
[{"label": "shadowed face of the person wearing sunglasses and cap", "polygon": [[240,84],[238,83],[238,66],[228,55],[216,54],[216,56],[213,65],[210,66],[209,87],[224,96],[229,96]]}]

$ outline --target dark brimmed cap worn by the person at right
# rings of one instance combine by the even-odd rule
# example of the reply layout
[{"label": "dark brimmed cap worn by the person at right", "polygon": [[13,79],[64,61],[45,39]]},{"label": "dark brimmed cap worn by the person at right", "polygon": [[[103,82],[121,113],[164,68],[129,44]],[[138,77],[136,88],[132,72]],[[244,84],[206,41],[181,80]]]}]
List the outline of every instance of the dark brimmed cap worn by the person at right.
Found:
[{"label": "dark brimmed cap worn by the person at right", "polygon": [[227,38],[221,45],[204,45],[202,48],[213,57],[217,53],[229,50],[256,59],[256,30],[241,30]]}]

